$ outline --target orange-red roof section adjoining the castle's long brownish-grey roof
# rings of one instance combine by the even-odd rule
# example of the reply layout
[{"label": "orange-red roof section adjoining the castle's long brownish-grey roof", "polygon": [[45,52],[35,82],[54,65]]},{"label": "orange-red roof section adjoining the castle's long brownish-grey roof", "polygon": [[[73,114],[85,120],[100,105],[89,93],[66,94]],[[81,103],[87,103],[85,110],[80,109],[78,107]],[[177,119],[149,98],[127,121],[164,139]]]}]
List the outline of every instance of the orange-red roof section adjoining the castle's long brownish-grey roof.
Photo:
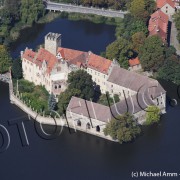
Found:
[{"label": "orange-red roof section adjoining the castle's long brownish-grey roof", "polygon": [[96,71],[107,74],[111,63],[112,61],[110,61],[109,59],[103,58],[90,52],[87,66],[95,69]]}]

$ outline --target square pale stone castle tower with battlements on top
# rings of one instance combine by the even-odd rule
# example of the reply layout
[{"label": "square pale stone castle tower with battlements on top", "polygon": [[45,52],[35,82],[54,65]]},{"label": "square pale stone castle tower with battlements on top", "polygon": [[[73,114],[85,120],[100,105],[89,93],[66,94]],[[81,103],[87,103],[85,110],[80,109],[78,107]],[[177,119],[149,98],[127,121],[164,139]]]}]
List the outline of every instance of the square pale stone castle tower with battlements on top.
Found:
[{"label": "square pale stone castle tower with battlements on top", "polygon": [[61,46],[61,34],[49,32],[45,36],[45,49],[56,55],[58,47]]}]

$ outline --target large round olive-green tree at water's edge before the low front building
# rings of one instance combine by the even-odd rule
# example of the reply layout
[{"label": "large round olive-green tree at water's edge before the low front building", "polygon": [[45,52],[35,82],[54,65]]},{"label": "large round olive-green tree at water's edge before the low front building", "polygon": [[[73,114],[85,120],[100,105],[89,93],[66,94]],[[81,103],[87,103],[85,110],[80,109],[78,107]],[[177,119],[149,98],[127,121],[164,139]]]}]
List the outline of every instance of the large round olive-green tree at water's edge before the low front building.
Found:
[{"label": "large round olive-green tree at water's edge before the low front building", "polygon": [[141,129],[134,117],[128,113],[112,119],[104,129],[105,135],[110,135],[114,140],[118,140],[120,144],[135,139],[141,133]]}]

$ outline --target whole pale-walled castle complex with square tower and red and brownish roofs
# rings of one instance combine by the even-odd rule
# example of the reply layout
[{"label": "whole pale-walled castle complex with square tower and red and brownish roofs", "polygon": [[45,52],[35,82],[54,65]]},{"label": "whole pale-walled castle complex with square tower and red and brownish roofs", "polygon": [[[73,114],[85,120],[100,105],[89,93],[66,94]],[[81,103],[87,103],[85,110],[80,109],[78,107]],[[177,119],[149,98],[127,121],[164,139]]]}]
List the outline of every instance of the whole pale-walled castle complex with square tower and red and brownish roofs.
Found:
[{"label": "whole pale-walled castle complex with square tower and red and brownish roofs", "polygon": [[[56,97],[68,84],[71,71],[84,69],[99,85],[101,93],[117,94],[120,102],[111,107],[72,97],[66,116],[78,127],[103,135],[107,122],[125,112],[130,112],[140,124],[145,121],[145,109],[156,105],[165,113],[166,92],[157,80],[121,68],[92,52],[83,52],[61,47],[61,35],[48,33],[45,48],[38,52],[26,48],[21,52],[24,79],[35,85],[43,85]],[[91,123],[90,123],[91,121]],[[94,126],[91,127],[91,125]]]}]

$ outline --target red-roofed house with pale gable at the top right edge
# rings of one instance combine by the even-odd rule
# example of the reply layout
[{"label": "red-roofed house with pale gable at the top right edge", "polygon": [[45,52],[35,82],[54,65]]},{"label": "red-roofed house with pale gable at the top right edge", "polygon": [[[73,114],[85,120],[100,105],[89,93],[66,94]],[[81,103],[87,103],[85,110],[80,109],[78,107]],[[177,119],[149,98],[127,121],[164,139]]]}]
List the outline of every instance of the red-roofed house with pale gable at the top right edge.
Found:
[{"label": "red-roofed house with pale gable at the top right edge", "polygon": [[176,2],[173,0],[156,0],[156,7],[171,18],[176,10]]}]

